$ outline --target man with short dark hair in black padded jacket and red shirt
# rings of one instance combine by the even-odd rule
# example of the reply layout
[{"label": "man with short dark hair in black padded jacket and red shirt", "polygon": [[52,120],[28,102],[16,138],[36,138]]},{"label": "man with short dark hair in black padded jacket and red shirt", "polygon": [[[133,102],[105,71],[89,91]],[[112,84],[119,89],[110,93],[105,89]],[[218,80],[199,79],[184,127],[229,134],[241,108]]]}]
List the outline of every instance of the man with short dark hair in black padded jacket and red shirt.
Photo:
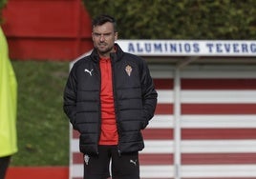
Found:
[{"label": "man with short dark hair in black padded jacket and red shirt", "polygon": [[101,15],[93,21],[95,49],[78,60],[64,90],[64,111],[80,133],[84,179],[139,179],[139,150],[157,105],[148,67],[115,43],[117,24]]}]

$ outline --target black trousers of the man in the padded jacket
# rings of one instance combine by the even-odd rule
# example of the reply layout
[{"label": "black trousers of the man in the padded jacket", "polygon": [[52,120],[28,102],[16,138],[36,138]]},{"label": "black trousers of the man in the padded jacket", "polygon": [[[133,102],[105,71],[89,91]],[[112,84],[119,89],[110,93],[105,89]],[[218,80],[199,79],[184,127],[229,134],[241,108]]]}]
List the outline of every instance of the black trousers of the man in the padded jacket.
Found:
[{"label": "black trousers of the man in the padded jacket", "polygon": [[119,155],[117,145],[113,145],[98,146],[98,155],[84,155],[84,179],[108,178],[139,179],[139,152]]}]

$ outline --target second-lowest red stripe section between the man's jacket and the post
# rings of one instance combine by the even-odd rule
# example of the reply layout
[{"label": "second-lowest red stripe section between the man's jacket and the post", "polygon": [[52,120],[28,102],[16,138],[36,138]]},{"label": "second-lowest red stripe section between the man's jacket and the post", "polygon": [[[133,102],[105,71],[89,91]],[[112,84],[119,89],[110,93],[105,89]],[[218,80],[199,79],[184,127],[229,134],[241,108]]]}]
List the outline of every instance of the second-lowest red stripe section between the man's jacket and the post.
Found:
[{"label": "second-lowest red stripe section between the man's jacket and the post", "polygon": [[147,140],[173,139],[173,129],[144,129],[142,134]]}]

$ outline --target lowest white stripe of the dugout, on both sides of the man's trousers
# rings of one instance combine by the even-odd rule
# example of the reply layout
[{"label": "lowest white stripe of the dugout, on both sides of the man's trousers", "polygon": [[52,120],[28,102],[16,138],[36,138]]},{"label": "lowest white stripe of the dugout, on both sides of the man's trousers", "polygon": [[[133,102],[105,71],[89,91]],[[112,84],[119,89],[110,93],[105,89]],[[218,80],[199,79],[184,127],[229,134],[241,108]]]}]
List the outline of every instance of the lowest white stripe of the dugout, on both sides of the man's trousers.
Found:
[{"label": "lowest white stripe of the dugout, on both sides of the man's trousers", "polygon": [[[83,165],[73,166],[73,177],[83,176]],[[172,178],[172,165],[140,165],[141,178]],[[183,165],[181,177],[256,177],[256,165]]]}]

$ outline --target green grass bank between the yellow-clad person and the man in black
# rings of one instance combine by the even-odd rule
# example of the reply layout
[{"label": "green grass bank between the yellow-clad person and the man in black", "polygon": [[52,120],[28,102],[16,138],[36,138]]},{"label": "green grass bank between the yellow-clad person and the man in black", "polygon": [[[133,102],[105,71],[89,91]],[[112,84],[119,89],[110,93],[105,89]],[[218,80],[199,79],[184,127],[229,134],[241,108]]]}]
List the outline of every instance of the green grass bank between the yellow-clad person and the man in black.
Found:
[{"label": "green grass bank between the yellow-clad person and the man in black", "polygon": [[69,121],[63,89],[69,63],[11,61],[18,81],[18,152],[11,166],[68,166]]}]

